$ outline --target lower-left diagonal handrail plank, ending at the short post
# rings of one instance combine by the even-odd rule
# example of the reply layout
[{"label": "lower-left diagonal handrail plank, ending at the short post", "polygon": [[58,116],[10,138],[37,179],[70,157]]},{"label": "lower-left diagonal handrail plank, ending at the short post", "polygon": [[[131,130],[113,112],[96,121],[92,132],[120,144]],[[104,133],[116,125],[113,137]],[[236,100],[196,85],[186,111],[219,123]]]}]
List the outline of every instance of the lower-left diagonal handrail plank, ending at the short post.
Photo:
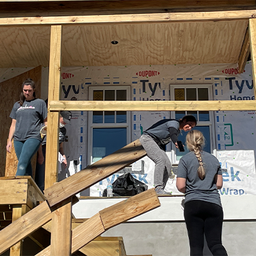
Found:
[{"label": "lower-left diagonal handrail plank, ending at the short post", "polygon": [[8,227],[0,231],[0,254],[18,243],[33,231],[42,227],[52,218],[51,210],[47,202],[43,202]]}]

